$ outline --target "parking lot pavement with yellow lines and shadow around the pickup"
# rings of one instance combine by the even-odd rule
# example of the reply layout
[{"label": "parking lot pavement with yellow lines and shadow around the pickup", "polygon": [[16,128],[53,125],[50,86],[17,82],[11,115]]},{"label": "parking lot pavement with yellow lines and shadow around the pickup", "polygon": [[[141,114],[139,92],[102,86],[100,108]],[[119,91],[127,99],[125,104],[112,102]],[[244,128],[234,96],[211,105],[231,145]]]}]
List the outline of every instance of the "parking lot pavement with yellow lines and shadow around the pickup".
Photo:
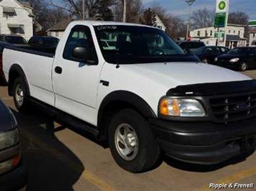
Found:
[{"label": "parking lot pavement with yellow lines and shadow around the pickup", "polygon": [[[245,72],[256,78],[256,71]],[[254,183],[256,154],[213,166],[164,162],[151,172],[131,174],[118,167],[109,149],[56,124],[35,108],[18,113],[6,88],[0,98],[17,117],[27,190],[209,190],[210,183]]]}]

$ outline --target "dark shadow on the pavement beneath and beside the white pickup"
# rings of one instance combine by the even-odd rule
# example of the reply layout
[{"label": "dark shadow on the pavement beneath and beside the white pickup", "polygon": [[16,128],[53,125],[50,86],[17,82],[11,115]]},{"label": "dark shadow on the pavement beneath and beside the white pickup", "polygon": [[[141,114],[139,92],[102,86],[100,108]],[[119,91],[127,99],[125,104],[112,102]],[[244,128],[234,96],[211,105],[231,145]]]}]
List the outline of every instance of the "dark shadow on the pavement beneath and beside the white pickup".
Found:
[{"label": "dark shadow on the pavement beneath and beside the white pickup", "polygon": [[[29,171],[27,190],[73,190],[72,186],[79,180],[81,173],[84,172],[84,166],[76,155],[61,143],[54,134],[66,128],[63,126],[55,128],[53,119],[47,113],[37,111],[35,108],[32,111],[35,112],[25,115],[12,110],[17,118],[24,140],[22,152],[25,165]],[[69,129],[107,148],[107,144],[95,141],[84,132],[71,127]],[[190,164],[163,156],[154,169],[159,167],[162,162],[166,162],[171,167],[189,172],[212,172],[242,162],[252,153],[248,152],[226,162],[213,165]]]}]

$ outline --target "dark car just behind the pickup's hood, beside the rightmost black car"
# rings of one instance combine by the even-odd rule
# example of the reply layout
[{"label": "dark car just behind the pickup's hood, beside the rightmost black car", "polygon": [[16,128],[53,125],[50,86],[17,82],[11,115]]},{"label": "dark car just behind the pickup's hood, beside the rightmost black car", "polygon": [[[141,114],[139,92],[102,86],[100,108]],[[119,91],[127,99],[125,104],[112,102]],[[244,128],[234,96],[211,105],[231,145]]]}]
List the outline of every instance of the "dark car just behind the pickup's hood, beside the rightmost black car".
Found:
[{"label": "dark car just behind the pickup's hood, beside the rightmost black car", "polygon": [[195,50],[194,54],[197,55],[203,63],[213,64],[217,56],[224,55],[227,52],[229,52],[229,48],[227,47],[207,46],[198,48],[198,50]]}]

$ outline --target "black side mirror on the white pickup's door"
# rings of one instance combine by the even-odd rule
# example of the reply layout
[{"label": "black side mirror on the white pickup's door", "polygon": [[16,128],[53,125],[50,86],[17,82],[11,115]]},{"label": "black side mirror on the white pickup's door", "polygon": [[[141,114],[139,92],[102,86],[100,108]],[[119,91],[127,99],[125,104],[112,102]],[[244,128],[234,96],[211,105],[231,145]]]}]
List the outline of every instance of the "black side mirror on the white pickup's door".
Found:
[{"label": "black side mirror on the white pickup's door", "polygon": [[97,65],[95,60],[91,60],[91,50],[89,47],[75,47],[72,57],[78,62],[87,62],[89,65]]}]

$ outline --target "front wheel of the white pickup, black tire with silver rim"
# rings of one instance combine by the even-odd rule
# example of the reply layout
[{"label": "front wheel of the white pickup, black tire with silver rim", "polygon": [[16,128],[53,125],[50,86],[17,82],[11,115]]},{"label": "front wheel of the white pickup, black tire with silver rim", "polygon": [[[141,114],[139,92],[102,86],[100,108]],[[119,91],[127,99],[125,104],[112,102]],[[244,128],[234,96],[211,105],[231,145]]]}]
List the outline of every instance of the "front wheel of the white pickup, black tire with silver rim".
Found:
[{"label": "front wheel of the white pickup, black tire with silver rim", "polygon": [[[118,139],[122,133],[125,139]],[[124,109],[112,118],[108,141],[115,162],[128,172],[146,172],[159,162],[160,149],[149,123],[132,109]]]}]

